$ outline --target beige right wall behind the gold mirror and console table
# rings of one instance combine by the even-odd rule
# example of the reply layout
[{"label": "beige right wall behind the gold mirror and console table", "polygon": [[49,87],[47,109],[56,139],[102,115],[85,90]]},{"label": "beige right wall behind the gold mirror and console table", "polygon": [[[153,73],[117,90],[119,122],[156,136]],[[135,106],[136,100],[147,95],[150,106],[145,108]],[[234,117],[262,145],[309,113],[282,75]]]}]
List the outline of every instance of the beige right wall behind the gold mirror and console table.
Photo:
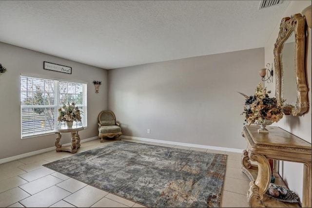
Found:
[{"label": "beige right wall behind the gold mirror and console table", "polygon": [[[311,1],[308,0],[292,0],[288,8],[286,9],[283,17],[291,17],[293,14],[301,13],[301,11],[306,8],[307,6],[311,5]],[[282,19],[281,18],[281,19]],[[274,56],[273,56],[273,48],[276,38],[279,32],[279,25],[280,22],[276,22],[276,27],[272,33],[271,38],[268,40],[265,46],[265,63],[274,63]],[[307,65],[306,65],[306,73],[308,77],[308,84],[309,84],[309,101],[311,102],[311,28],[308,29],[308,48],[307,48]],[[275,93],[275,81],[272,84],[266,83],[268,89],[271,89],[273,95]],[[292,115],[285,116],[281,121],[277,123],[279,127],[282,129],[293,133],[294,135],[308,141],[311,143],[311,106],[307,113],[305,113],[301,117],[293,117]],[[289,188],[299,194],[302,198],[302,174],[303,174],[303,165],[298,163],[289,163],[284,162],[281,163],[281,175],[283,176],[284,180],[288,184]]]}]

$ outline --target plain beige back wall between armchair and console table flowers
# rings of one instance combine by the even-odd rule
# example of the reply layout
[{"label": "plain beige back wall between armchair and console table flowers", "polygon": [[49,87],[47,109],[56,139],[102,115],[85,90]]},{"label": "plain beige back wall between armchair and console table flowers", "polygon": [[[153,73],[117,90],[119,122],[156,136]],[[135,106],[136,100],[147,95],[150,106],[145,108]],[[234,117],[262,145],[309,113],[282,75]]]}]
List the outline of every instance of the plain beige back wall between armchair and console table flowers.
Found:
[{"label": "plain beige back wall between armchair and console table flowers", "polygon": [[108,106],[124,135],[245,149],[235,91],[254,94],[263,63],[258,48],[109,70]]}]

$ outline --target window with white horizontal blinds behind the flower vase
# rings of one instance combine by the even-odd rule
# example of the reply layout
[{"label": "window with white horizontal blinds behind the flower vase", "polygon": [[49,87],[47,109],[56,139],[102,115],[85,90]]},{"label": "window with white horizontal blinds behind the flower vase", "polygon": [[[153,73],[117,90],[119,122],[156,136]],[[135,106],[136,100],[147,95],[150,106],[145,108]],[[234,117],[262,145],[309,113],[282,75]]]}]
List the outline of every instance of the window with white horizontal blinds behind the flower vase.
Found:
[{"label": "window with white horizontal blinds behind the flower vase", "polygon": [[58,109],[74,102],[81,112],[81,122],[73,127],[87,127],[87,84],[20,76],[21,138],[54,132],[59,122]]}]

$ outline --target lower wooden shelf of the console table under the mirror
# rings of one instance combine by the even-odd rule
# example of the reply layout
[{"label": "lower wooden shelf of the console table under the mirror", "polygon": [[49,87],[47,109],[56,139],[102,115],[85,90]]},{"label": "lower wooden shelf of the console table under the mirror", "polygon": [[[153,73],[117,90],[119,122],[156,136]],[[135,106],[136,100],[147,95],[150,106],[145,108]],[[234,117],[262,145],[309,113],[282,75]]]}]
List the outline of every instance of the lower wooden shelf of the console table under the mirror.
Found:
[{"label": "lower wooden shelf of the console table under the mirror", "polygon": [[[242,167],[242,171],[249,177],[251,181],[255,181],[258,174],[258,167],[256,165],[252,165],[250,169],[246,169]],[[273,173],[275,176],[274,184],[277,186],[282,186],[288,189],[287,185],[283,181],[282,177],[278,173]],[[264,203],[265,207],[268,208],[300,208],[299,203],[290,203],[290,202],[280,202],[276,199],[273,199],[266,194],[263,196],[262,202]]]}]

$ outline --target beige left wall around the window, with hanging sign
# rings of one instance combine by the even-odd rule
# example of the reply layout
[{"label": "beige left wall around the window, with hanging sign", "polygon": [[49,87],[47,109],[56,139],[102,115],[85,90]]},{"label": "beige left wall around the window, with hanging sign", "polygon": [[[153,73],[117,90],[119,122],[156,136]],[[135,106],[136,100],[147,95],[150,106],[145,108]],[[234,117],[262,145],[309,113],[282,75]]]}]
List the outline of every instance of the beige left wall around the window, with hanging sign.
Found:
[{"label": "beige left wall around the window, with hanging sign", "polygon": [[[72,74],[43,69],[43,61],[72,67]],[[0,42],[0,63],[7,72],[0,76],[0,159],[53,147],[56,135],[20,139],[20,74],[55,77],[88,82],[88,128],[81,131],[81,139],[98,135],[98,113],[107,109],[107,70],[54,57]],[[99,93],[92,81],[101,80]],[[68,135],[67,135],[68,134]],[[61,143],[69,143],[66,133]]]}]

